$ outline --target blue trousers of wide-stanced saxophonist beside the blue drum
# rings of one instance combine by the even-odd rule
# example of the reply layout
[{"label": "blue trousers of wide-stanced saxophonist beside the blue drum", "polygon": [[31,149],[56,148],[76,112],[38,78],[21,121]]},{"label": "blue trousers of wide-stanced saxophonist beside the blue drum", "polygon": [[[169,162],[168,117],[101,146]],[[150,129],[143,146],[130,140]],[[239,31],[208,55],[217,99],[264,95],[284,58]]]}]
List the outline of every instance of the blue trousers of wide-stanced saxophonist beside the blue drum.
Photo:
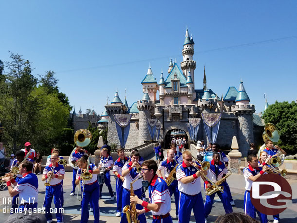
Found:
[{"label": "blue trousers of wide-stanced saxophonist beside the blue drum", "polygon": [[221,199],[226,214],[229,214],[229,213],[233,212],[232,206],[230,204],[230,200],[229,200],[229,197],[228,197],[228,194],[226,192],[222,193],[221,191],[218,191],[216,193],[213,193],[210,196],[206,195],[205,204],[204,204],[204,218],[207,218],[208,215],[210,214],[212,204],[213,204],[213,199],[215,198],[216,194]]}]

